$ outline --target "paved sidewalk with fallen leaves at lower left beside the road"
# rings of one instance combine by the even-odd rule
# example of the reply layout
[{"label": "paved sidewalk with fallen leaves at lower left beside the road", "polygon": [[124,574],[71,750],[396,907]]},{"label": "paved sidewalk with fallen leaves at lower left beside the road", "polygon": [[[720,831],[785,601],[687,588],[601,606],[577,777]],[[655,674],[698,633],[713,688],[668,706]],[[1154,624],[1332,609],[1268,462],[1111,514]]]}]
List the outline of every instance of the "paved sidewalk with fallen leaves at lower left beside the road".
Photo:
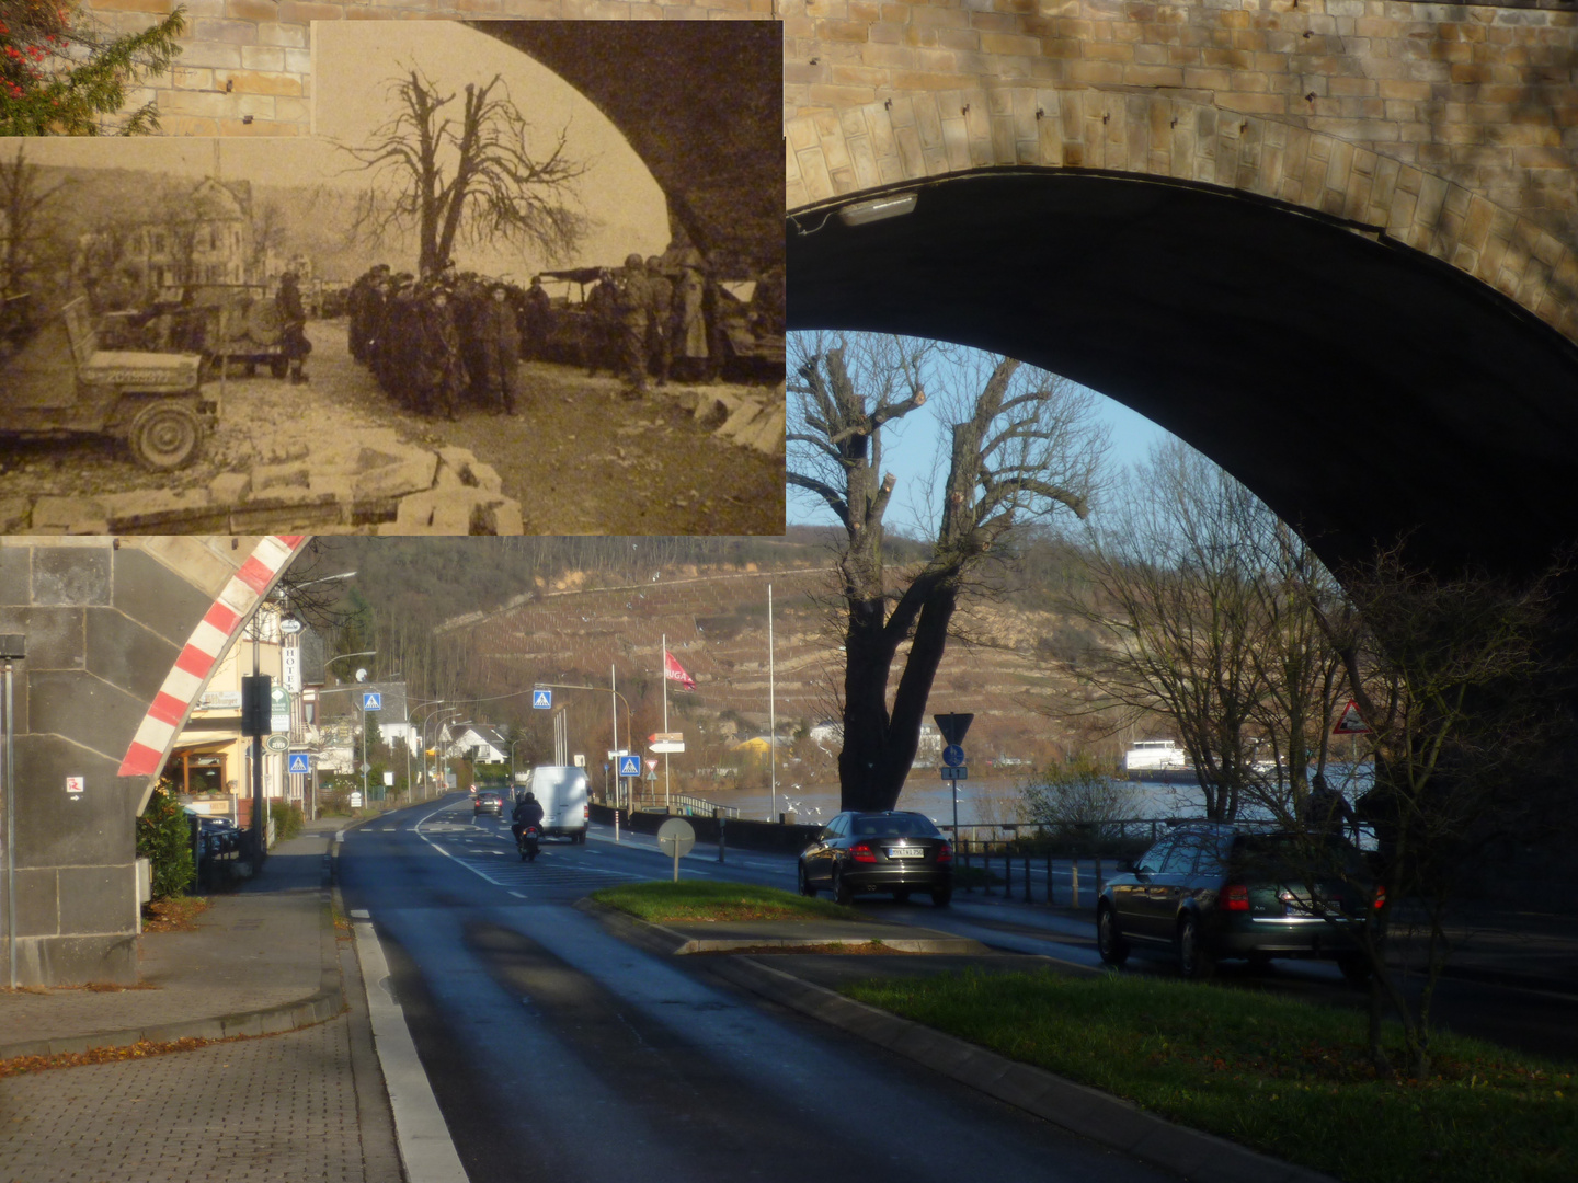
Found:
[{"label": "paved sidewalk with fallen leaves at lower left beside the road", "polygon": [[[260,875],[211,898],[196,932],[144,934],[140,989],[0,992],[0,1062],[133,1049],[0,1063],[0,1180],[402,1178],[357,957],[330,913],[339,825],[279,842]],[[218,1043],[133,1047],[175,1039]]]}]

